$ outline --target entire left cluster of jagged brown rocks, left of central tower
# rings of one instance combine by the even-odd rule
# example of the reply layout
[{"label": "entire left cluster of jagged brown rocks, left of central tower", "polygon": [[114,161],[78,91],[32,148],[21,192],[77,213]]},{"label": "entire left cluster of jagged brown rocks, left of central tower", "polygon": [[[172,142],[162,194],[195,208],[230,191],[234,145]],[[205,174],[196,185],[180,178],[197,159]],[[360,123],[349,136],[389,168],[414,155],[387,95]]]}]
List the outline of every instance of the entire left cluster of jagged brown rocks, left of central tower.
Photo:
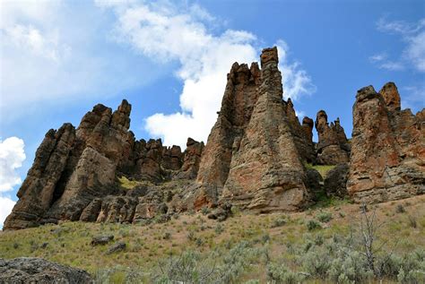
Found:
[{"label": "entire left cluster of jagged brown rocks, left of central tower", "polygon": [[162,146],[160,140],[135,141],[128,130],[130,112],[126,100],[114,112],[97,105],[82,117],[77,129],[65,124],[49,130],[4,228],[28,228],[59,219],[131,222],[147,189],[126,192],[118,176],[153,187],[194,178],[204,144],[188,139],[186,151],[181,152],[178,146]]}]

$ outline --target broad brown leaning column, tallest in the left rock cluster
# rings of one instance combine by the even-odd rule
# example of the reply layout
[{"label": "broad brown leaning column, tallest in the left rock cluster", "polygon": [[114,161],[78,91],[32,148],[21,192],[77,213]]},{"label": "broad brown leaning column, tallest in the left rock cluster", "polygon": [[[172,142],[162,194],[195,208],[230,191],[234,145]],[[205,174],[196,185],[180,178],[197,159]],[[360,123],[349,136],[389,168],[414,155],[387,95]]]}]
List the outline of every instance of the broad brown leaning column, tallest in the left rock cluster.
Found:
[{"label": "broad brown leaning column, tallest in the left rock cluster", "polygon": [[94,198],[116,194],[117,169],[126,164],[134,143],[134,135],[128,131],[130,111],[131,105],[124,99],[114,112],[97,105],[82,117],[76,132],[82,152],[63,194],[47,213],[49,219],[80,219]]}]

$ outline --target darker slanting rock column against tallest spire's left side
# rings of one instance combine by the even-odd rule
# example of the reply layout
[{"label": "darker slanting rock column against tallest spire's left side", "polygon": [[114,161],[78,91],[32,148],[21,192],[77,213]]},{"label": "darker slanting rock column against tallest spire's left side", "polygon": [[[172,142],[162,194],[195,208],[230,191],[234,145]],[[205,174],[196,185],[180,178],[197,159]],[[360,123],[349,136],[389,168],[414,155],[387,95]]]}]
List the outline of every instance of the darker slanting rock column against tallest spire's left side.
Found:
[{"label": "darker slanting rock column against tallest spire's left side", "polygon": [[235,63],[231,66],[221,110],[212,127],[199,164],[196,178],[195,207],[212,205],[221,194],[230,170],[233,151],[237,151],[244,128],[257,99],[260,80],[258,65]]}]

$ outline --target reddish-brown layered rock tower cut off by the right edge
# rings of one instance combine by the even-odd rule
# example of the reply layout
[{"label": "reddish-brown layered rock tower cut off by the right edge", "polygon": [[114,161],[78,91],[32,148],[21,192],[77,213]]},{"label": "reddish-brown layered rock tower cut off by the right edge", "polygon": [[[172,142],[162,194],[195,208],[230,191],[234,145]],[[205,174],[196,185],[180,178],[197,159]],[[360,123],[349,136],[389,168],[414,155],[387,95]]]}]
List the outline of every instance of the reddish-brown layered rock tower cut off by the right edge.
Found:
[{"label": "reddish-brown layered rock tower cut off by the right edge", "polygon": [[357,92],[347,182],[356,202],[385,202],[425,193],[425,109],[401,110],[393,82]]}]

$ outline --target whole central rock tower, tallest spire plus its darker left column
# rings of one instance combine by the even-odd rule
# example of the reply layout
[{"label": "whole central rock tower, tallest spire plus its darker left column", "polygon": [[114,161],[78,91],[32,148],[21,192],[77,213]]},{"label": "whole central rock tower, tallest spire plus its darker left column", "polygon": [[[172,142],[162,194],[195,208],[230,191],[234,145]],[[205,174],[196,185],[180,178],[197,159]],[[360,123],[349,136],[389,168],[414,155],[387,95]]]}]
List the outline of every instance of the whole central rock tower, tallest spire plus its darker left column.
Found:
[{"label": "whole central rock tower, tallest spire plus its darker left column", "polygon": [[233,65],[198,173],[200,188],[215,189],[212,195],[206,192],[206,200],[219,198],[256,211],[294,211],[308,201],[291,129],[296,116],[287,115],[292,107],[282,99],[277,65],[275,47],[263,50],[261,71],[257,65]]}]

